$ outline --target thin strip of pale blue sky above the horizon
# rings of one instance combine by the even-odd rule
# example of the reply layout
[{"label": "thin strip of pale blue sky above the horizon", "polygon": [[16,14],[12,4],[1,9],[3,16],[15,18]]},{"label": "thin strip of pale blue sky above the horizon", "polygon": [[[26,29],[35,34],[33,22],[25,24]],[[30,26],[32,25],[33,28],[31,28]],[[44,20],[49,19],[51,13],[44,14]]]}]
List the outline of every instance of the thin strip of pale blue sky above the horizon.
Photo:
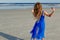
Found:
[{"label": "thin strip of pale blue sky above the horizon", "polygon": [[0,0],[0,3],[60,3],[60,0]]}]

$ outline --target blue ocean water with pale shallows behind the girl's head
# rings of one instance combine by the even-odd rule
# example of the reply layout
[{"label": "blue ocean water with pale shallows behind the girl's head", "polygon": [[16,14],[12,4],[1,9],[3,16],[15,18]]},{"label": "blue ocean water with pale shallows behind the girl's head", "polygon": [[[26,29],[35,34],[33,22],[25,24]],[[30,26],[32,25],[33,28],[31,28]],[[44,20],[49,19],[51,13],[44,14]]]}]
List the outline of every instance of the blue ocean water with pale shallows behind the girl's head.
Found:
[{"label": "blue ocean water with pale shallows behind the girl's head", "polygon": [[[33,8],[35,3],[0,3],[0,9]],[[60,8],[60,3],[41,3],[43,8]]]}]

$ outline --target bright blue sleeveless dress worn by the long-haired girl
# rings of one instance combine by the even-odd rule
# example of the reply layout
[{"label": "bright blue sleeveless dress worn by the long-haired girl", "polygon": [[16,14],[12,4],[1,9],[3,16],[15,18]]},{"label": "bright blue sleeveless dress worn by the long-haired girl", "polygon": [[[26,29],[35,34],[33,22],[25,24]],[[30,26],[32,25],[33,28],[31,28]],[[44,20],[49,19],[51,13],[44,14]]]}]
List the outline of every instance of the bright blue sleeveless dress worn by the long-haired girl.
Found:
[{"label": "bright blue sleeveless dress worn by the long-haired girl", "polygon": [[37,38],[42,39],[44,38],[44,32],[45,32],[45,21],[44,21],[44,11],[42,11],[42,15],[39,20],[37,20],[34,24],[34,27],[32,31],[30,32],[32,34],[31,38]]}]

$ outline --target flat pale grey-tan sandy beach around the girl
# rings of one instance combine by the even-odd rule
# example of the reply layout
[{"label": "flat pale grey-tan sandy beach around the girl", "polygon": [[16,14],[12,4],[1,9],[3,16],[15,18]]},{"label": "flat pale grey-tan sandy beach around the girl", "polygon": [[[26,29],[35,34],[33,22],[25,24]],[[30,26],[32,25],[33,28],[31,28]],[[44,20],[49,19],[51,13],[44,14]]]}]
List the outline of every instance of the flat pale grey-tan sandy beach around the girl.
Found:
[{"label": "flat pale grey-tan sandy beach around the girl", "polygon": [[[32,9],[1,9],[0,40],[30,40],[35,20]],[[44,9],[50,12],[49,8]],[[60,8],[52,17],[45,17],[45,40],[60,39]]]}]

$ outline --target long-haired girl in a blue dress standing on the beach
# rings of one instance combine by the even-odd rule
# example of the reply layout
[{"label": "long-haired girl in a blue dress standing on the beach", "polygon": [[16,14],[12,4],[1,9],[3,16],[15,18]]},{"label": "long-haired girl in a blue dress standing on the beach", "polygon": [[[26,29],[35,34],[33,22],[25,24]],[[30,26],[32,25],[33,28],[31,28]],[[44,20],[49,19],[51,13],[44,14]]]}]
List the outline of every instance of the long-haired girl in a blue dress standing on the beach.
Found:
[{"label": "long-haired girl in a blue dress standing on the beach", "polygon": [[32,34],[32,40],[44,40],[44,32],[45,32],[45,15],[48,17],[51,17],[52,14],[54,13],[55,9],[51,8],[51,13],[49,14],[48,12],[46,12],[45,10],[42,10],[42,5],[37,2],[34,5],[34,9],[32,10],[32,13],[35,17],[36,22],[35,25],[32,29],[32,31],[30,32]]}]

